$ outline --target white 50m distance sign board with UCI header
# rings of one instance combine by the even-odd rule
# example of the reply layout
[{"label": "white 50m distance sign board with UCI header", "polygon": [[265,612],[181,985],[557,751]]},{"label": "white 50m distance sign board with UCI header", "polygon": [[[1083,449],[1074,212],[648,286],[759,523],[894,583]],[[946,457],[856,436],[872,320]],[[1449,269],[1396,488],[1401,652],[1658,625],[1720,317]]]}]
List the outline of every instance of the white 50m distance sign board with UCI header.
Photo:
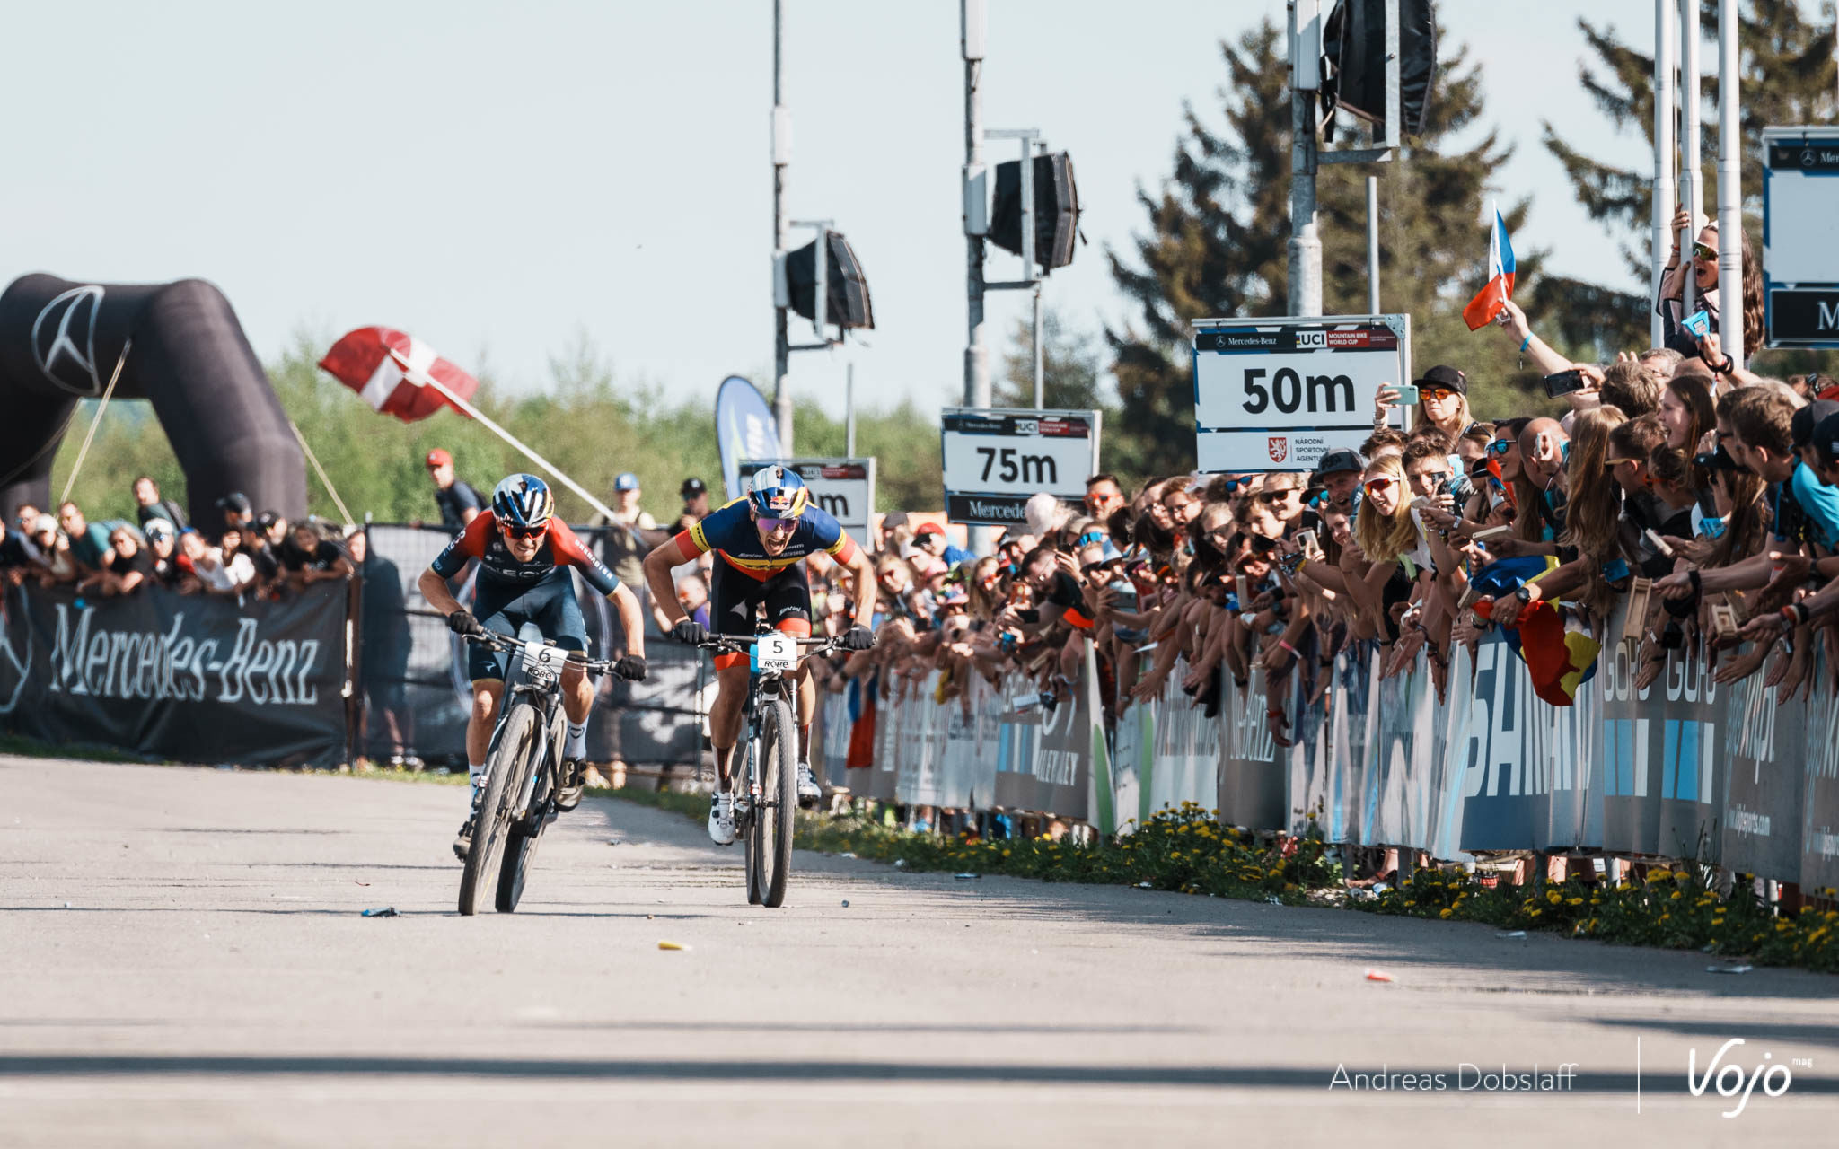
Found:
[{"label": "white 50m distance sign board with UCI header", "polygon": [[1195,320],[1195,461],[1313,471],[1330,450],[1359,449],[1374,393],[1411,377],[1409,314]]}]

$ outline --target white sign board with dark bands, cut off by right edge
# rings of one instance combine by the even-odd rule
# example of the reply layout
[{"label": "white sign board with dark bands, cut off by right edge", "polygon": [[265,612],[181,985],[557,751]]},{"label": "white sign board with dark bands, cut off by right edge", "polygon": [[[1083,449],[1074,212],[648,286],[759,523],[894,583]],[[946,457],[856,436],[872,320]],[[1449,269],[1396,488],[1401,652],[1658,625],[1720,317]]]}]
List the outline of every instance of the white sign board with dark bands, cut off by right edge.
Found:
[{"label": "white sign board with dark bands, cut off by right edge", "polygon": [[1762,300],[1771,347],[1839,347],[1839,131],[1762,132]]}]

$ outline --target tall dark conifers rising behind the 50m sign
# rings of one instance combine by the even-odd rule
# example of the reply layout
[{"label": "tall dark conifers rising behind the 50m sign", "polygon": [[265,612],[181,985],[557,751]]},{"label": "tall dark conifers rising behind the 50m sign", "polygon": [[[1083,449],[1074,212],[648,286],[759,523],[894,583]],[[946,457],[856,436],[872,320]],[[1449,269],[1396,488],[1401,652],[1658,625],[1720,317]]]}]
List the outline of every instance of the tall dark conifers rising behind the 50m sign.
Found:
[{"label": "tall dark conifers rising behind the 50m sign", "polygon": [[[1144,469],[1194,467],[1190,324],[1212,316],[1278,316],[1287,309],[1289,68],[1284,33],[1265,20],[1221,42],[1225,129],[1190,107],[1173,171],[1157,195],[1138,191],[1149,230],[1135,261],[1107,252],[1137,322],[1107,329],[1118,381],[1120,432],[1144,443]],[[1447,40],[1445,40],[1447,44]],[[1381,307],[1412,316],[1412,368],[1447,362],[1471,379],[1477,415],[1526,408],[1537,377],[1508,340],[1469,333],[1462,305],[1486,281],[1490,184],[1512,154],[1493,132],[1468,151],[1444,151],[1482,116],[1480,68],[1460,46],[1438,64],[1422,138],[1392,164],[1324,165],[1317,178],[1322,307],[1366,311],[1366,191],[1379,176]],[[1526,202],[1502,204],[1510,233]],[[1536,281],[1541,252],[1515,248],[1519,281]],[[1537,298],[1528,314],[1537,318]]]}]

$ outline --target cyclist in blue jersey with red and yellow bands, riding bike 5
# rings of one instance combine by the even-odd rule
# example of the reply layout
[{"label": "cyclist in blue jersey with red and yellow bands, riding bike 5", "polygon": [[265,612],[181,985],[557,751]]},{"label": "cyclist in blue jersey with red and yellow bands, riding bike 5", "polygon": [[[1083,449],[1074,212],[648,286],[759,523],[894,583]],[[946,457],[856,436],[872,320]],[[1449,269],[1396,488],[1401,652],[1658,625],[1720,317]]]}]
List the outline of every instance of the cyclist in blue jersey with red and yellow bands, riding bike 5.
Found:
[{"label": "cyclist in blue jersey with red and yellow bands, riding bike 5", "polygon": [[[855,574],[855,618],[868,620],[875,612],[875,564],[842,533],[826,511],[813,507],[811,491],[796,471],[763,467],[754,474],[745,498],[708,515],[688,531],[645,555],[645,581],[651,597],[673,623],[671,638],[699,643],[708,638],[693,620],[684,618],[671,586],[671,568],[693,561],[704,552],[715,552],[710,579],[710,631],[717,634],[752,634],[754,612],[763,609],[776,631],[798,638],[811,634],[811,583],[805,581],[804,559],[824,552]],[[851,625],[842,645],[866,651],[875,636],[862,625]],[[710,743],[715,745],[717,787],[710,798],[708,836],[717,844],[734,842],[734,794],[730,792],[728,757],[741,737],[741,704],[747,700],[747,654],[715,654],[715,704],[708,711]],[[798,796],[818,798],[811,776],[811,717],[817,711],[817,688],[798,667]]]}]

